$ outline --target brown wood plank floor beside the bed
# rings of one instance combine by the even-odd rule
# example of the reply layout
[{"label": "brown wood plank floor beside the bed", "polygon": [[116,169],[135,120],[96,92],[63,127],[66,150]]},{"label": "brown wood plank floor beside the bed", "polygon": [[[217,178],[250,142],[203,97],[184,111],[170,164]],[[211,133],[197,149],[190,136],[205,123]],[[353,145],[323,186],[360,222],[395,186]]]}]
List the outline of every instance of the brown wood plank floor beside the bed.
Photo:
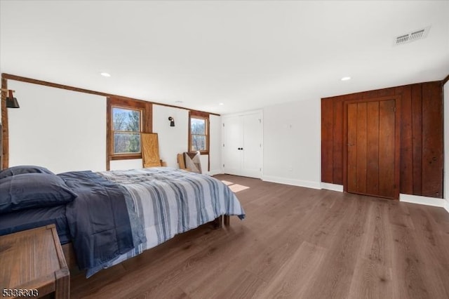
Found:
[{"label": "brown wood plank floor beside the bed", "polygon": [[[102,270],[72,298],[449,298],[443,208],[217,175],[246,220],[199,227]],[[238,186],[237,186],[238,187]]]}]

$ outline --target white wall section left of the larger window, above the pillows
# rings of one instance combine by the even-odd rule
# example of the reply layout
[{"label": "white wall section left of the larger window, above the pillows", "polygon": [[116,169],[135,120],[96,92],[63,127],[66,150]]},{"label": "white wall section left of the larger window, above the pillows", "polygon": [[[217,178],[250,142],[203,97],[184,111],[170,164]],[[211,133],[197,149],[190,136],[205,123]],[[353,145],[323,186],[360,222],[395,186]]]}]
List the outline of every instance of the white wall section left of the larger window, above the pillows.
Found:
[{"label": "white wall section left of the larger window, above the pillows", "polygon": [[13,80],[8,88],[20,105],[8,109],[10,166],[105,170],[105,97]]}]

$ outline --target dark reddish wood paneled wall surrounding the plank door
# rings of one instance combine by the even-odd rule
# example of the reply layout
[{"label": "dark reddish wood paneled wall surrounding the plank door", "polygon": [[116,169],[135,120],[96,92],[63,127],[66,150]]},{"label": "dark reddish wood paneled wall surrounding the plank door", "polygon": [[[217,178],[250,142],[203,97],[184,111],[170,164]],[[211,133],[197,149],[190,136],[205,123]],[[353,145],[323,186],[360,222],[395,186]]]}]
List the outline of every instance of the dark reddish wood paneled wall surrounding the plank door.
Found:
[{"label": "dark reddish wood paneled wall surrounding the plank door", "polygon": [[321,181],[337,185],[344,182],[344,102],[391,95],[401,97],[399,192],[443,198],[442,81],[321,99]]}]

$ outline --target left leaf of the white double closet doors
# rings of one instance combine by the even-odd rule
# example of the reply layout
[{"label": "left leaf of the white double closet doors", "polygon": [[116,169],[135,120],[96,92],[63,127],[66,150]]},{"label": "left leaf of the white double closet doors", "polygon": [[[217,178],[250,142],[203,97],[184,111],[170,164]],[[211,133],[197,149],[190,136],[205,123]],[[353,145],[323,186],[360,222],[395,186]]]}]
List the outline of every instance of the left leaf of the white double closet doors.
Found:
[{"label": "left leaf of the white double closet doors", "polygon": [[242,119],[239,116],[223,119],[223,171],[241,175],[243,150]]}]

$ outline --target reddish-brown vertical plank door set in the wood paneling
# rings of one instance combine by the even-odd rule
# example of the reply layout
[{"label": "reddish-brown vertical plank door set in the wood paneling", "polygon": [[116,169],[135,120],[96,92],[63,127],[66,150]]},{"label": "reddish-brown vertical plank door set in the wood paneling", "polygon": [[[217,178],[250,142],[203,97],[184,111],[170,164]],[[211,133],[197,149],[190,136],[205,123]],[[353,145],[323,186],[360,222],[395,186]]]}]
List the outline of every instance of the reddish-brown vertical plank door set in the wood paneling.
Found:
[{"label": "reddish-brown vertical plank door set in the wood paneling", "polygon": [[398,99],[345,103],[346,184],[350,193],[398,199]]}]

